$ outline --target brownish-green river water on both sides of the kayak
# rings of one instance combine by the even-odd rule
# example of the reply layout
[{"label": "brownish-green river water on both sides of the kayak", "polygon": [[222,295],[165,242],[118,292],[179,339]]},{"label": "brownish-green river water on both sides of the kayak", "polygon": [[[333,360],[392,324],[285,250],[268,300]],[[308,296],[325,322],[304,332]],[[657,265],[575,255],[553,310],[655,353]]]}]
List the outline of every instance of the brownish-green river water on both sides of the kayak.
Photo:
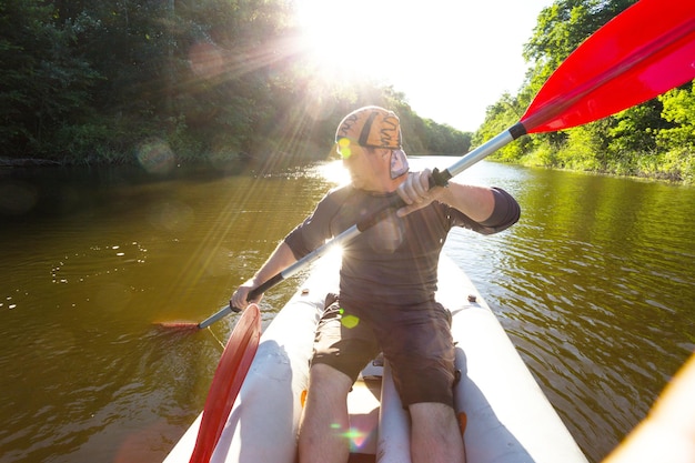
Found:
[{"label": "brownish-green river water on both sides of the kayak", "polygon": [[[235,320],[158,323],[216,312],[341,172],[0,172],[0,461],[161,461]],[[490,162],[462,178],[513,193],[522,220],[445,252],[598,462],[695,349],[695,188]],[[293,292],[266,294],[264,324]]]}]

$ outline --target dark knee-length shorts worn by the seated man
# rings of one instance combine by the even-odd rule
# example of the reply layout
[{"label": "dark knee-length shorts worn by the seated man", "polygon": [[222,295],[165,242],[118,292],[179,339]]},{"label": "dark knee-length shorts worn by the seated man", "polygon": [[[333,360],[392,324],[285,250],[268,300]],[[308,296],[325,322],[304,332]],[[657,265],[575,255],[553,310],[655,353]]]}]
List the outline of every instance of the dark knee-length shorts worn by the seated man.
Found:
[{"label": "dark knee-length shorts worn by the seated man", "polygon": [[422,402],[453,406],[451,313],[436,302],[370,310],[377,316],[361,316],[340,301],[332,302],[319,322],[312,362],[331,365],[355,381],[383,352],[403,406]]}]

